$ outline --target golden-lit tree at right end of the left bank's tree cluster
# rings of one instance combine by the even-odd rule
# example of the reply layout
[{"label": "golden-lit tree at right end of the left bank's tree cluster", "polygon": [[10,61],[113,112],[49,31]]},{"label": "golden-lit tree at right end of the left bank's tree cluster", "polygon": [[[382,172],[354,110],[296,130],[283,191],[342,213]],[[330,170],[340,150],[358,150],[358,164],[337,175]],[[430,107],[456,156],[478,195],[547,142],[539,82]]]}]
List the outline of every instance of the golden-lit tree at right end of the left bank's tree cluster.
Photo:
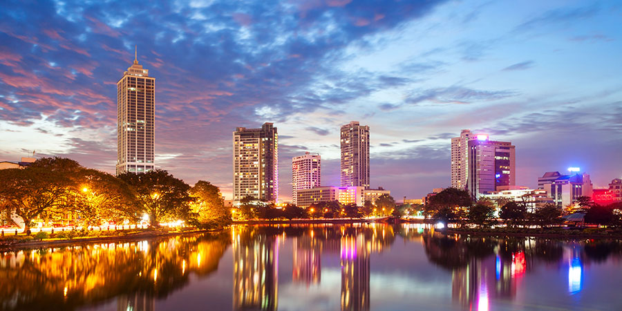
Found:
[{"label": "golden-lit tree at right end of the left bank's tree cluster", "polygon": [[190,196],[195,199],[191,211],[199,223],[229,223],[231,220],[231,209],[225,207],[225,199],[218,187],[199,180],[190,189]]}]

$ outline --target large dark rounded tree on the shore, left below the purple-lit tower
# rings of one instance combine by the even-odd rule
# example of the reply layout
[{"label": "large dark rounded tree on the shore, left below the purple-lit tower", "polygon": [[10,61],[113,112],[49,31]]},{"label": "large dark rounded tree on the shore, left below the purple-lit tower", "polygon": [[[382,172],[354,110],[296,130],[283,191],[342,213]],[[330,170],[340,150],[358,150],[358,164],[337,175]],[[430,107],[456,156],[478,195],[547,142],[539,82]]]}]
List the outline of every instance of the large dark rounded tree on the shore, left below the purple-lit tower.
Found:
[{"label": "large dark rounded tree on the shore, left below the purple-lit tower", "polygon": [[424,216],[447,221],[460,219],[471,205],[469,191],[447,188],[430,198],[424,206]]}]

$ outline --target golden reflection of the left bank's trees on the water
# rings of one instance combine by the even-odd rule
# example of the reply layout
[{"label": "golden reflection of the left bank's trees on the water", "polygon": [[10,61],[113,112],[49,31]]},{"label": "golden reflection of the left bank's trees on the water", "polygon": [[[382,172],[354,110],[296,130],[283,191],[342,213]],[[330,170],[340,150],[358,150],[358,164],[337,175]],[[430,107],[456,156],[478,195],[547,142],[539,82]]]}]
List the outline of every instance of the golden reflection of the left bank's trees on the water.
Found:
[{"label": "golden reflection of the left bank's trees on the water", "polygon": [[0,310],[166,295],[188,283],[186,272],[214,272],[228,245],[220,234],[0,253]]}]

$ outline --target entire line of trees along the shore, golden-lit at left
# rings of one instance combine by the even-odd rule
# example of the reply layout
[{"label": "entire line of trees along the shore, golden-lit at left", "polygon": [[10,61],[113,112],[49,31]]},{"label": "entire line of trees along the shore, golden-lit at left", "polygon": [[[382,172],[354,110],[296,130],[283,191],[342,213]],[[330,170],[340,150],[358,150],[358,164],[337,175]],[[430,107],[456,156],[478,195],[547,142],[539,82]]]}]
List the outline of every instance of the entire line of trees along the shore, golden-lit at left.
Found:
[{"label": "entire line of trees along the shore, golden-lit at left", "polygon": [[[26,240],[180,230],[171,227],[218,229],[233,220],[236,223],[387,217],[396,220],[415,215],[422,216],[424,222],[489,232],[559,227],[565,221],[565,214],[581,213],[583,223],[606,226],[611,231],[622,228],[621,205],[601,206],[589,198],[580,198],[574,207],[565,210],[554,205],[528,210],[526,203],[473,200],[468,191],[448,188],[432,196],[426,205],[397,205],[391,196],[383,195],[361,207],[338,201],[298,207],[275,205],[247,196],[238,207],[231,208],[225,206],[220,189],[210,182],[199,180],[191,187],[163,170],[113,176],[82,167],[67,158],[41,158],[24,169],[0,171],[0,212],[4,217],[15,215],[21,219],[21,231],[26,236],[33,227],[52,227],[50,232],[39,229],[37,236]],[[55,232],[57,224],[63,229]],[[111,225],[114,230],[110,229]],[[65,230],[66,226],[73,229]],[[124,230],[118,230],[119,227]],[[3,228],[0,241],[19,239],[10,237],[8,233],[12,230],[15,228]]]}]

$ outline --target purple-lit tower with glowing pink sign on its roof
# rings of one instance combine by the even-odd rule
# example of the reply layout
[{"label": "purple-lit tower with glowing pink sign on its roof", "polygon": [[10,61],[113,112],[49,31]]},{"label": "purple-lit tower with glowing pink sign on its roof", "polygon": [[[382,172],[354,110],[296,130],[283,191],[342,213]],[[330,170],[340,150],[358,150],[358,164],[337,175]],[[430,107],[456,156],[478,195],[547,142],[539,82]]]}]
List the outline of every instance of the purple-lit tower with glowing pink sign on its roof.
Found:
[{"label": "purple-lit tower with glowing pink sign on its roof", "polygon": [[478,134],[467,145],[466,189],[471,196],[516,185],[516,156],[511,142],[497,142],[489,140],[487,134]]}]

